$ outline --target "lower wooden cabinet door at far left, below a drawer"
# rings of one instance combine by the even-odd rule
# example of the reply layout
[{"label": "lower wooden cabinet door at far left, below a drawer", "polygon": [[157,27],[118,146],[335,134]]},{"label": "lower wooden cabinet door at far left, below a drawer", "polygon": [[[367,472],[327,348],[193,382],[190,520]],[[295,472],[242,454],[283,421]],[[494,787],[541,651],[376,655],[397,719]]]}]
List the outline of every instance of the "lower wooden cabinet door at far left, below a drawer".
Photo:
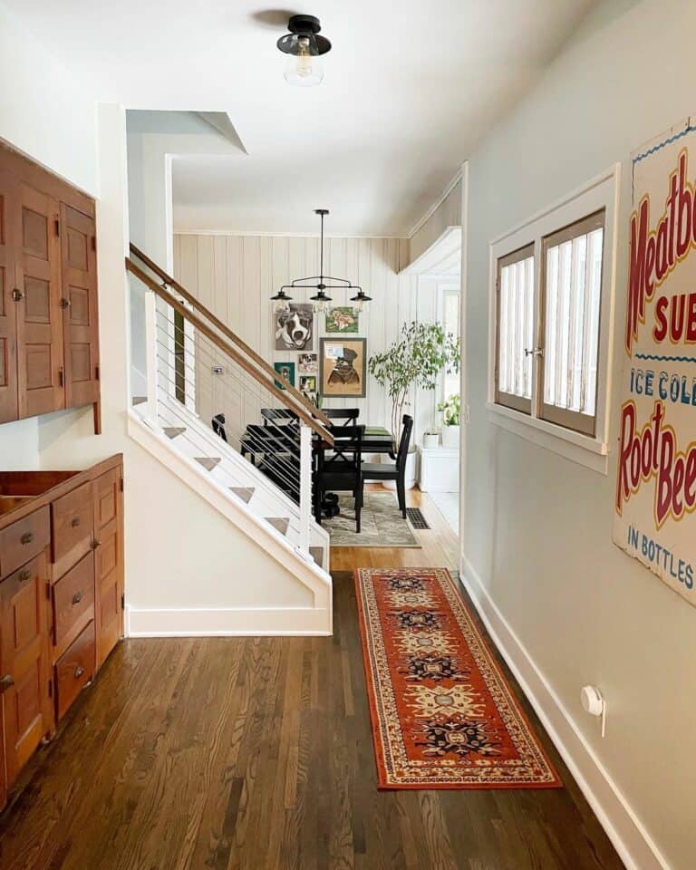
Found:
[{"label": "lower wooden cabinet door at far left, below a drawer", "polygon": [[0,670],[8,784],[51,730],[45,556],[0,584]]}]

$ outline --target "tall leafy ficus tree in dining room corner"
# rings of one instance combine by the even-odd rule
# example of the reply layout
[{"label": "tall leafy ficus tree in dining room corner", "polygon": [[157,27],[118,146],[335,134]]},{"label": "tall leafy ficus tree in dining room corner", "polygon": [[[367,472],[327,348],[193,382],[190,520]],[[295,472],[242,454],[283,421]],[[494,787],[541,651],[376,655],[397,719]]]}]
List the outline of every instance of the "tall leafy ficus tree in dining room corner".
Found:
[{"label": "tall leafy ficus tree in dining room corner", "polygon": [[[459,372],[459,338],[445,333],[441,324],[403,324],[397,341],[383,353],[374,353],[368,368],[391,399],[391,439],[396,452],[401,418],[411,404],[413,392],[434,390],[440,372]],[[406,486],[416,482],[415,445],[411,444],[406,466]]]}]

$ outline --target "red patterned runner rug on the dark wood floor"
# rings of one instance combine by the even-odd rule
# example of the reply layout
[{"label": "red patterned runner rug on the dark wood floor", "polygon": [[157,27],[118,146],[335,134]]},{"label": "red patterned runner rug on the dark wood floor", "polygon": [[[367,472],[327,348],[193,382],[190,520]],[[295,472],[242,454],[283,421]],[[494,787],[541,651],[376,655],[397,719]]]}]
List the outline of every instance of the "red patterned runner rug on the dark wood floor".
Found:
[{"label": "red patterned runner rug on the dark wood floor", "polygon": [[444,568],[355,572],[380,788],[558,788]]}]

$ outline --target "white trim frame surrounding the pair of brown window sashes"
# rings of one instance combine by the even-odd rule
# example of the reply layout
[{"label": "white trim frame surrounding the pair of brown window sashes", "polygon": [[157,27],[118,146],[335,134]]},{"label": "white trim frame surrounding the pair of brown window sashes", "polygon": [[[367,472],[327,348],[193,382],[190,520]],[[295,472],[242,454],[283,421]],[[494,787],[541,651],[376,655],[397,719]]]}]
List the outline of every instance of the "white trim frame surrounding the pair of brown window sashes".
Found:
[{"label": "white trim frame surrounding the pair of brown window sashes", "polygon": [[[601,474],[607,473],[611,420],[611,384],[614,345],[614,299],[616,287],[616,251],[618,244],[619,182],[621,164],[616,163],[601,175],[574,190],[556,203],[536,213],[522,224],[494,238],[489,245],[488,287],[488,417],[508,431],[514,432],[540,447],[553,450]],[[568,227],[595,211],[604,209],[604,263],[602,307],[597,349],[597,398],[593,436],[565,429],[537,415],[540,402],[536,399],[536,376],[533,375],[531,414],[498,405],[496,398],[497,353],[497,280],[498,260],[534,246],[535,323],[539,329],[538,311],[541,304],[541,259],[544,237]],[[543,341],[539,338],[539,341]]]}]

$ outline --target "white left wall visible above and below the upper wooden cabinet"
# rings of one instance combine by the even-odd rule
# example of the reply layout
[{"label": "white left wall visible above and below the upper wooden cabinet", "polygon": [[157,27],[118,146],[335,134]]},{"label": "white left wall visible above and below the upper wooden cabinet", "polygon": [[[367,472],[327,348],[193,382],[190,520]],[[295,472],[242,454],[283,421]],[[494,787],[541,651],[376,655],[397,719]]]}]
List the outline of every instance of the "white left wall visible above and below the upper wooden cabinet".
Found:
[{"label": "white left wall visible above and below the upper wooden cabinet", "polygon": [[[97,188],[95,106],[84,82],[0,5],[0,139],[91,193]],[[39,467],[36,418],[0,425],[0,466]]]}]

